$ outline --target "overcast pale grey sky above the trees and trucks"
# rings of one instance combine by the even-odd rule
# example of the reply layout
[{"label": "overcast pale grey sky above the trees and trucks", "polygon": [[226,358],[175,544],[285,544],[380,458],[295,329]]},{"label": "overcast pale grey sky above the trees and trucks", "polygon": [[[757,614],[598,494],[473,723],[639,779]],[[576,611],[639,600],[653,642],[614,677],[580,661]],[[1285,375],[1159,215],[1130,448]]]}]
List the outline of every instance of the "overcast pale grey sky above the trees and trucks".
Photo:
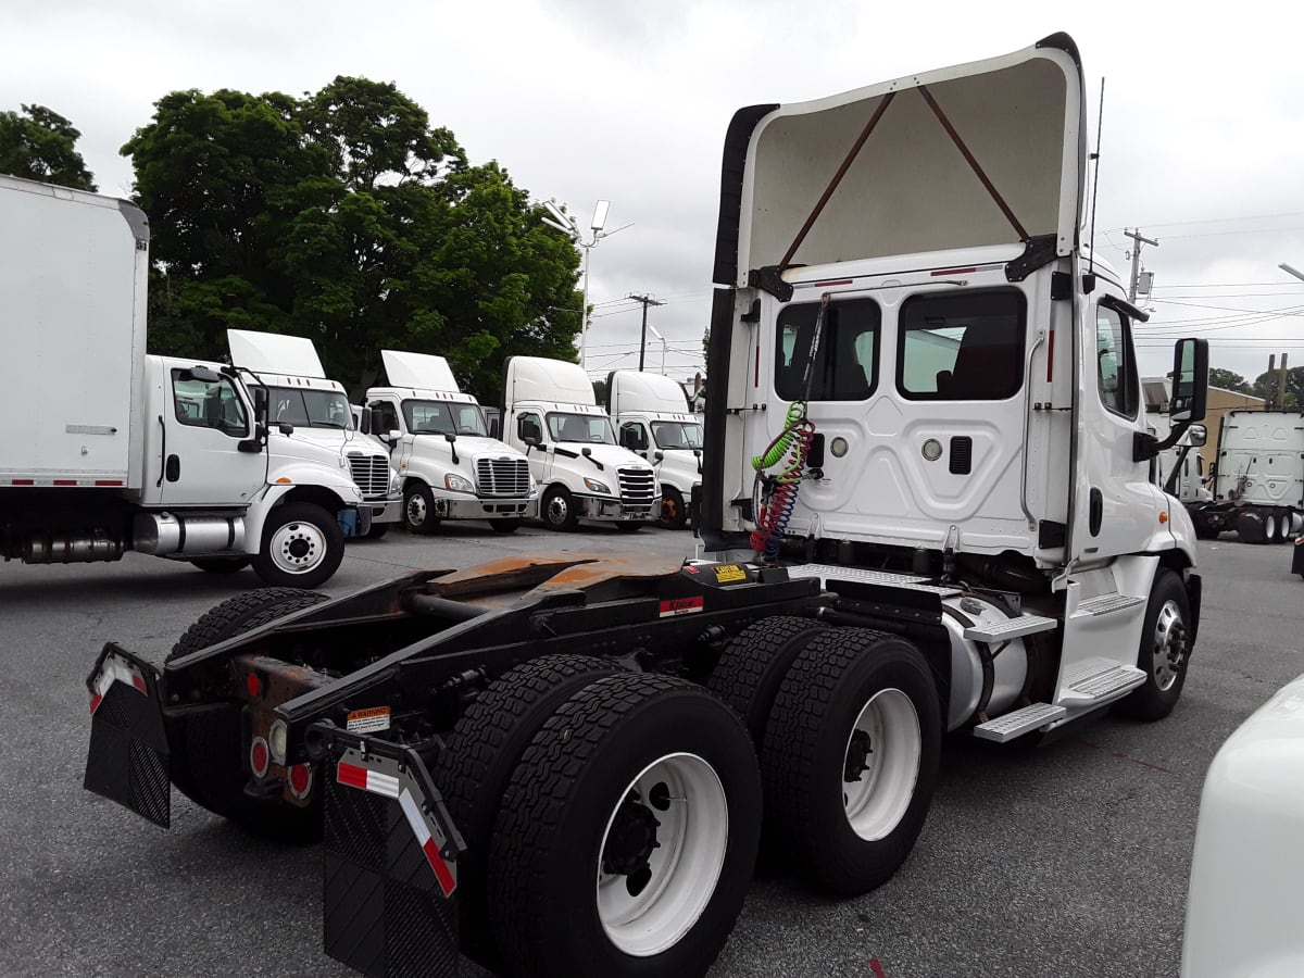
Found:
[{"label": "overcast pale grey sky above the trees and trucks", "polygon": [[[119,149],[170,91],[316,91],[335,76],[394,82],[475,163],[498,160],[536,201],[587,227],[585,368],[703,369],[733,112],[820,98],[1016,51],[1077,42],[1094,149],[1095,243],[1154,274],[1138,327],[1144,374],[1172,340],[1210,340],[1247,378],[1270,353],[1304,366],[1304,4],[974,4],[934,0],[43,0],[7,4],[0,110],[43,104],[82,133],[102,193],[129,196]],[[592,240],[592,233],[585,241]]]}]

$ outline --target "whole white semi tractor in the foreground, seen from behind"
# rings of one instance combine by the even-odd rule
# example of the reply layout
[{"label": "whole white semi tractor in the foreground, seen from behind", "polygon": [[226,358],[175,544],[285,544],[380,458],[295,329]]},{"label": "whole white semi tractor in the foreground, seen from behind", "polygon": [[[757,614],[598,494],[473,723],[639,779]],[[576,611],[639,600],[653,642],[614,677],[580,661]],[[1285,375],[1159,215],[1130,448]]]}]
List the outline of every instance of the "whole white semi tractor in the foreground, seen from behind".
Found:
[{"label": "whole white semi tractor in the foreground, seen from behind", "polygon": [[[760,852],[833,896],[891,879],[945,735],[1168,715],[1201,591],[1191,519],[1149,469],[1204,415],[1208,349],[1176,343],[1175,434],[1154,438],[1145,314],[1086,244],[1084,104],[1056,34],[741,110],[711,559],[258,592],[162,666],[110,643],[87,788],[159,824],[175,785],[256,831],[323,833],[326,953],[366,974],[443,978],[462,952],[520,978],[686,978]],[[592,433],[585,386],[509,389],[505,419],[615,481],[548,420]]]}]

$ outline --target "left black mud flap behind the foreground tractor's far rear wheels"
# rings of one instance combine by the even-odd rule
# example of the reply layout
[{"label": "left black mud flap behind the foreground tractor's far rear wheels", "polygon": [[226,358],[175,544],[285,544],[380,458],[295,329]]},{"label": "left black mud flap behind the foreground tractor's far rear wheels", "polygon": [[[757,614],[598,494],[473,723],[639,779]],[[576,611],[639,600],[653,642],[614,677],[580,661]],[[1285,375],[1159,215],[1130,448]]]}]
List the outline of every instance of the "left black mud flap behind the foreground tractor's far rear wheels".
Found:
[{"label": "left black mud flap behind the foreground tractor's far rear wheels", "polygon": [[86,689],[91,721],[82,785],[167,828],[172,790],[159,670],[110,642]]}]

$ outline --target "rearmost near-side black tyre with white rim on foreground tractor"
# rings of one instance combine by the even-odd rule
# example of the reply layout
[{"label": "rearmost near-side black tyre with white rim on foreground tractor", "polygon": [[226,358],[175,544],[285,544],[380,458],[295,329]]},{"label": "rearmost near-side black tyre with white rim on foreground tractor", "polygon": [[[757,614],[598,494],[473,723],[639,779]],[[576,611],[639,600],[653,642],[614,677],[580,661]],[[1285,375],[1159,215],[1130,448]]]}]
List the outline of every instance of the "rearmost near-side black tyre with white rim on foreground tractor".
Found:
[{"label": "rearmost near-side black tyre with white rim on foreground tractor", "polygon": [[700,686],[622,673],[569,699],[522,755],[489,854],[512,974],[703,974],[751,879],[760,777]]}]

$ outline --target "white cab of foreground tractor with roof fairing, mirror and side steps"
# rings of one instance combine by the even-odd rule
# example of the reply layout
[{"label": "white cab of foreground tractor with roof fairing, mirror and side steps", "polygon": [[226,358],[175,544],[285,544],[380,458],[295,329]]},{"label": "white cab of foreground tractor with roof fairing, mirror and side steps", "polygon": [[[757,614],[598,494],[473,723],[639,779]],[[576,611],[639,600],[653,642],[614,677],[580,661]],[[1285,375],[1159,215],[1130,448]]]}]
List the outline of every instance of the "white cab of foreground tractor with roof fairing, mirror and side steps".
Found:
[{"label": "white cab of foreground tractor with roof fairing, mirror and side steps", "polygon": [[[1052,35],[745,108],[726,137],[705,549],[944,588],[955,675],[986,677],[953,675],[948,729],[988,739],[1124,698],[1171,709],[1198,617],[1194,531],[1150,469],[1204,415],[1208,351],[1175,348],[1161,442],[1146,314],[1089,245],[1084,106]],[[999,608],[1021,621],[1004,679],[981,622]],[[1183,625],[1161,655],[1163,609]]]}]

